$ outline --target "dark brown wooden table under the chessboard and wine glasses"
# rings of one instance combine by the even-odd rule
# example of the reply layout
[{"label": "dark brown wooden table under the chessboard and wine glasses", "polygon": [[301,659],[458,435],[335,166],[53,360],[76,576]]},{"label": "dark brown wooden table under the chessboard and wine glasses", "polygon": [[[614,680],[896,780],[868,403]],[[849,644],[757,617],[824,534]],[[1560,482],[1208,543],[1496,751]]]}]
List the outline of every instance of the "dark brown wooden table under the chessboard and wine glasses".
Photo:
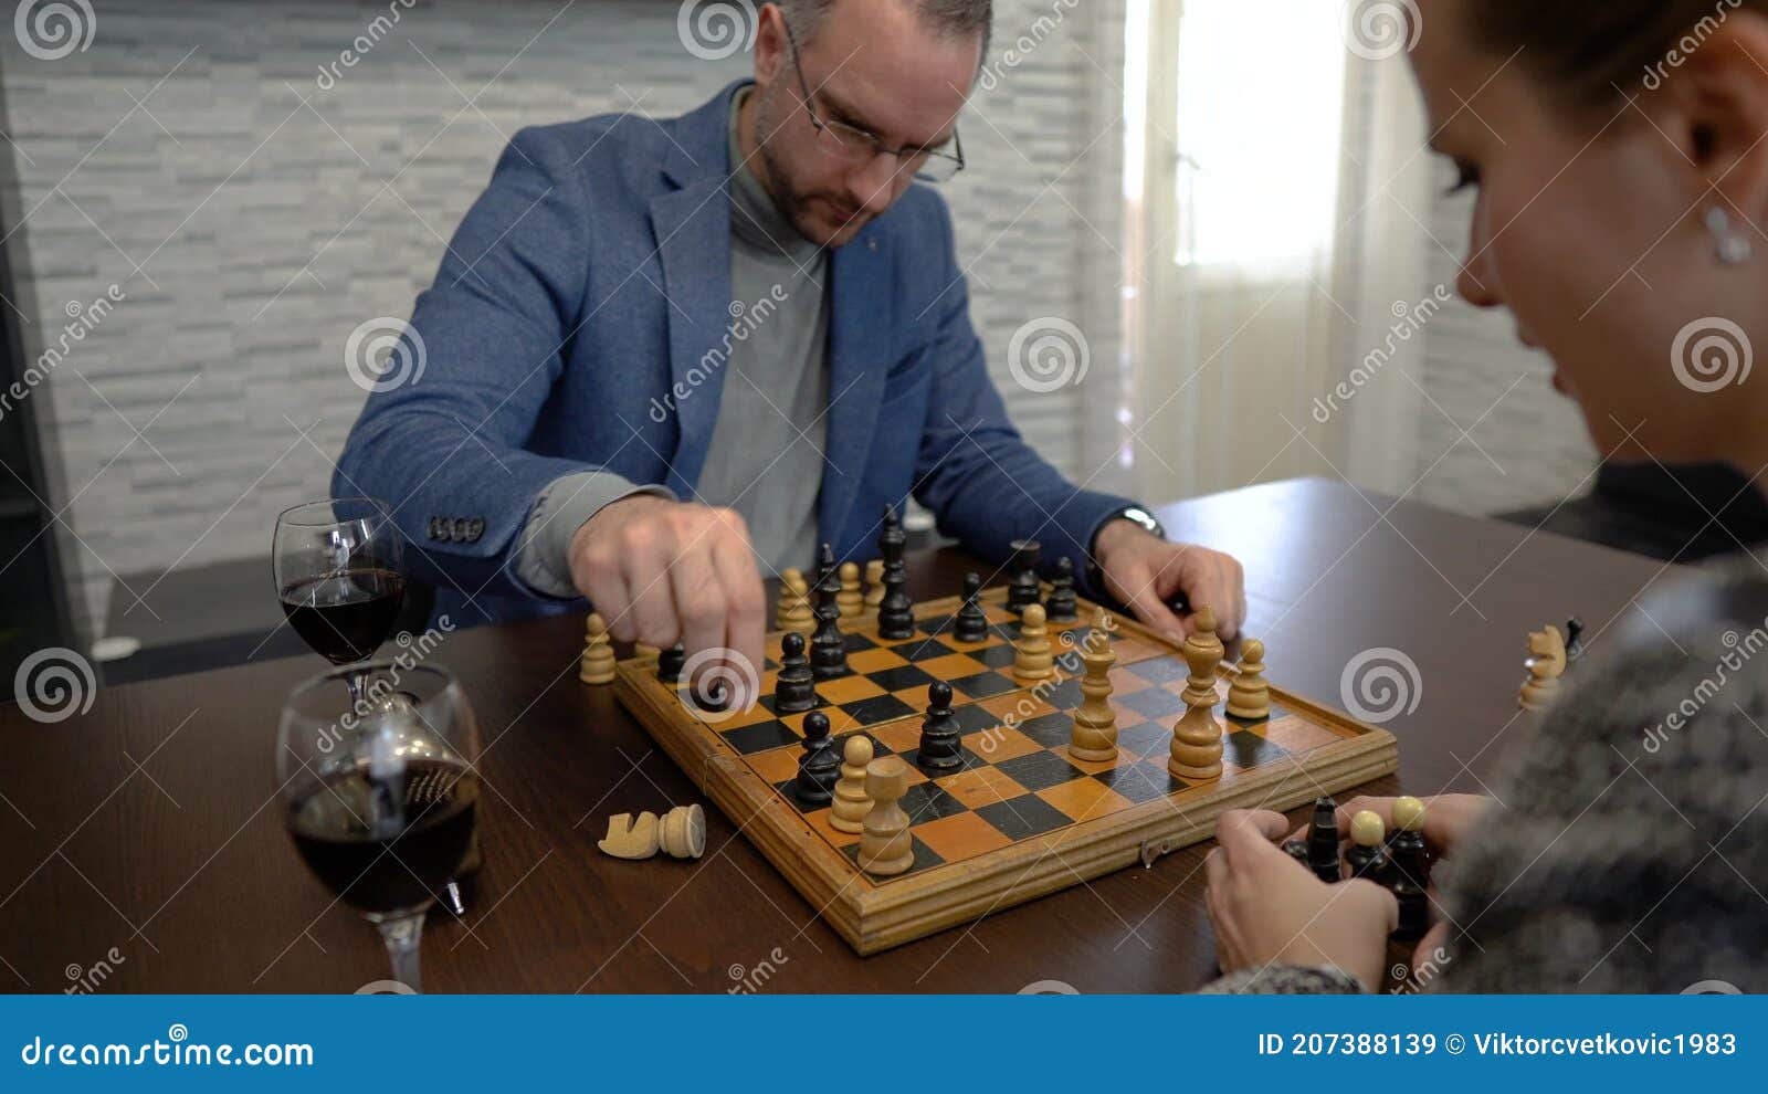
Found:
[{"label": "dark brown wooden table under the chessboard and wine glasses", "polygon": [[[1296,481],[1160,516],[1174,539],[1245,562],[1248,631],[1282,686],[1342,705],[1358,654],[1391,647],[1418,666],[1416,709],[1386,723],[1400,776],[1368,790],[1476,792],[1526,732],[1528,631],[1582,615],[1600,647],[1664,567],[1390,505]],[[911,592],[955,592],[971,567],[921,555]],[[1211,974],[1208,845],[866,960],[716,811],[698,862],[605,857],[608,815],[697,795],[608,689],[576,680],[580,649],[573,615],[460,631],[435,654],[479,712],[490,790],[472,908],[430,917],[428,990],[1183,991]],[[301,866],[274,797],[281,698],[318,668],[110,688],[58,725],[0,707],[0,990],[62,991],[94,969],[103,991],[354,991],[387,974],[373,930]]]}]

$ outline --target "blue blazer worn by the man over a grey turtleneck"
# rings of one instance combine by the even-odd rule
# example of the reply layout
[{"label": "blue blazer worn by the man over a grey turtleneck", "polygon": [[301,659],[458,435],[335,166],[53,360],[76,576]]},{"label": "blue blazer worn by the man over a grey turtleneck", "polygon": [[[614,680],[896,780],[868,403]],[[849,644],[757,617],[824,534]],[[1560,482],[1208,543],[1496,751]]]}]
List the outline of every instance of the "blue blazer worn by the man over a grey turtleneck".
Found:
[{"label": "blue blazer worn by the man over a grey turtleneck", "polygon": [[[423,375],[389,373],[370,396],[332,491],[394,507],[412,574],[456,624],[582,608],[514,576],[553,479],[603,468],[693,497],[725,380],[698,366],[732,322],[741,87],[663,122],[523,129],[417,297],[403,350]],[[1086,589],[1093,534],[1130,502],[1075,488],[1008,421],[944,200],[911,187],[833,255],[827,292],[834,403],[817,521],[836,557],[877,557],[884,505],[912,493],[978,555],[1038,539],[1045,569],[1068,555]]]}]

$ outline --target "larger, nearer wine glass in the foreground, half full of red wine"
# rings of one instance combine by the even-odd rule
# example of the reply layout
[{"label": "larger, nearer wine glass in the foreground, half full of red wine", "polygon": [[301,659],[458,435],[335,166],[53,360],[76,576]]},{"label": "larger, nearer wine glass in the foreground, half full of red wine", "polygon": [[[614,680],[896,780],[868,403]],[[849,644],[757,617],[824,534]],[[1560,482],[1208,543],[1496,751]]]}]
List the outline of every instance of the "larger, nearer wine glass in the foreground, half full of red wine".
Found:
[{"label": "larger, nearer wine glass in the foreground, half full of red wine", "polygon": [[283,703],[288,834],[313,875],[380,928],[392,979],[414,991],[424,914],[474,845],[477,762],[472,705],[440,666],[334,668]]}]

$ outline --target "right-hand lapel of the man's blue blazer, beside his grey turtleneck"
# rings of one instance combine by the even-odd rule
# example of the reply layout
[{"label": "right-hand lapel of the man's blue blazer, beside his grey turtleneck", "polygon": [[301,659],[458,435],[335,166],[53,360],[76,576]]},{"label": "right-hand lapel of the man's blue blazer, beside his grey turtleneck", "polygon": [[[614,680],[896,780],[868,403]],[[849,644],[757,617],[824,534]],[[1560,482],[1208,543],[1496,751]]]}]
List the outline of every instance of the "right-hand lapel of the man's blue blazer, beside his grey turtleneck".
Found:
[{"label": "right-hand lapel of the man's blue blazer, beside his grey turtleneck", "polygon": [[[822,537],[834,541],[865,477],[889,371],[891,253],[884,232],[861,232],[829,263],[829,431],[824,444]],[[919,444],[911,438],[909,444]]]}]

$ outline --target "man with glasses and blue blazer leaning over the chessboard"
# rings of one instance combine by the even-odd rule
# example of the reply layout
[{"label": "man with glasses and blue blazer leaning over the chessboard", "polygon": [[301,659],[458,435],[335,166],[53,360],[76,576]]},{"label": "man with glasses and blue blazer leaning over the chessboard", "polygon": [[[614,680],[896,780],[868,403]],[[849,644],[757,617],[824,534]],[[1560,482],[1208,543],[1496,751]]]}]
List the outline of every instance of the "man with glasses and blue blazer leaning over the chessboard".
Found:
[{"label": "man with glasses and blue blazer leaning over the chessboard", "polygon": [[334,479],[392,504],[438,612],[587,597],[615,638],[760,665],[760,567],[875,557],[912,495],[978,555],[1038,539],[1144,622],[1186,633],[1183,592],[1234,636],[1239,564],[1068,482],[990,384],[925,186],[962,170],[990,18],[767,4],[753,83],[516,134]]}]

